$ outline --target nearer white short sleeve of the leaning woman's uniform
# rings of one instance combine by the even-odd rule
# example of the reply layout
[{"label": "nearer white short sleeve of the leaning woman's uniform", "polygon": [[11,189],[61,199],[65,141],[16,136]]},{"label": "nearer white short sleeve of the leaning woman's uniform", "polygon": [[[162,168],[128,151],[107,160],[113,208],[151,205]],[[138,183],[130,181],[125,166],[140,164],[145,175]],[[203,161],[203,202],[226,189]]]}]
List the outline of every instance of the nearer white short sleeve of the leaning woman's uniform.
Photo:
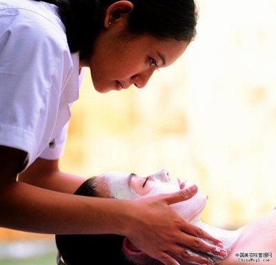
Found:
[{"label": "nearer white short sleeve of the leaning woman's uniform", "polygon": [[0,10],[0,145],[32,161],[55,130],[72,70],[66,35],[32,10]]}]

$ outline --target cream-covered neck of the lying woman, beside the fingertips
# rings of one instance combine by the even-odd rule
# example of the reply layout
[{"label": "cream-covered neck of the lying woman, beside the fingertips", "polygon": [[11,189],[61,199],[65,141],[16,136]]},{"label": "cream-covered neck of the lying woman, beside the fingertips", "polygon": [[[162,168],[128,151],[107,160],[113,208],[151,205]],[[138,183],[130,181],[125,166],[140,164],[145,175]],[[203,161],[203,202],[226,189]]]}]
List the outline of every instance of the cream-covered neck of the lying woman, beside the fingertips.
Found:
[{"label": "cream-covered neck of the lying woman, beside the fingertips", "polygon": [[[193,219],[192,223],[200,227],[202,230],[206,231],[213,237],[221,240],[221,242],[224,244],[224,249],[227,251],[227,253],[230,253],[233,244],[239,238],[239,235],[242,232],[242,228],[239,228],[237,230],[225,230],[217,228],[215,226],[210,226],[209,224],[204,223],[200,217],[196,217],[195,219]],[[210,258],[213,259],[216,263],[221,262],[221,260],[217,257]]]}]

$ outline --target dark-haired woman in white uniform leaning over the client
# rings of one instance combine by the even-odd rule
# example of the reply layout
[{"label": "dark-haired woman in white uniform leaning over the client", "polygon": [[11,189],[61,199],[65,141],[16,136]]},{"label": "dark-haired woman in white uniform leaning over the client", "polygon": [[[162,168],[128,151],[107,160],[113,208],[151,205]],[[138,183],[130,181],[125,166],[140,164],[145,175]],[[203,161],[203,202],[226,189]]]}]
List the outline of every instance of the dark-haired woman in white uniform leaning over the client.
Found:
[{"label": "dark-haired woman in white uniform leaning over the client", "polygon": [[168,253],[205,263],[186,248],[217,254],[219,240],[169,207],[196,186],[147,200],[88,198],[72,195],[83,177],[59,170],[81,68],[98,92],[143,88],[183,54],[196,20],[193,0],[0,0],[0,226],[124,235],[166,265],[177,264]]}]

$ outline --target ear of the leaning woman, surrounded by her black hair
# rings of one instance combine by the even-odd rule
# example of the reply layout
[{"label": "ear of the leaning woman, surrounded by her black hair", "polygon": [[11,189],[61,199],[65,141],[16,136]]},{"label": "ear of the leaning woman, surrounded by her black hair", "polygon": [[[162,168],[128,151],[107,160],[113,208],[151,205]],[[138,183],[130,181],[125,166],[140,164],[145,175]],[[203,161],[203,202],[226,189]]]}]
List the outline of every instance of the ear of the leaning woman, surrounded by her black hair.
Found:
[{"label": "ear of the leaning woman, surrounded by her black hair", "polygon": [[109,28],[112,23],[115,23],[119,19],[128,18],[132,10],[133,4],[130,1],[117,1],[112,3],[106,10],[106,16],[103,22],[104,28]]}]

